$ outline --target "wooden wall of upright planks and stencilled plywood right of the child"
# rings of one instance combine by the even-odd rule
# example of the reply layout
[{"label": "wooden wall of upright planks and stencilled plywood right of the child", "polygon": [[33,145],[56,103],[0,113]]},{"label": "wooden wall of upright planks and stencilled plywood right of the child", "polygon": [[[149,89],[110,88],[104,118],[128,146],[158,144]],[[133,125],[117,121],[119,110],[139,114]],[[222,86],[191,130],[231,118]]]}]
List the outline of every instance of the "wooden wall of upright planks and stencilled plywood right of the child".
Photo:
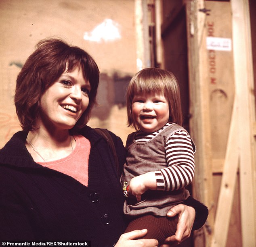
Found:
[{"label": "wooden wall of upright planks and stencilled plywood right of the child", "polygon": [[[197,96],[199,103],[191,111],[203,121],[199,125],[191,119],[191,129],[204,150],[197,156],[204,183],[195,183],[195,188],[210,208],[206,244],[254,246],[255,94],[249,2],[190,1],[187,11],[190,79],[196,80],[191,97]],[[207,37],[231,39],[230,51],[208,48]]]}]

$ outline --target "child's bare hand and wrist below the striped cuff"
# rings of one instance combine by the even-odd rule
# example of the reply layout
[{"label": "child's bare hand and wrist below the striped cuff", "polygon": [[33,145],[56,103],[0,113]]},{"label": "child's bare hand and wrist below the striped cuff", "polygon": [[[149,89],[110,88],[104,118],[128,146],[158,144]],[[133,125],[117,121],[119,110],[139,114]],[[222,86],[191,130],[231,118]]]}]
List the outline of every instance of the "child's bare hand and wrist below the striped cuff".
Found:
[{"label": "child's bare hand and wrist below the striped cuff", "polygon": [[141,201],[141,195],[143,195],[148,189],[156,189],[154,172],[147,172],[131,179],[129,194],[134,195],[137,201]]}]

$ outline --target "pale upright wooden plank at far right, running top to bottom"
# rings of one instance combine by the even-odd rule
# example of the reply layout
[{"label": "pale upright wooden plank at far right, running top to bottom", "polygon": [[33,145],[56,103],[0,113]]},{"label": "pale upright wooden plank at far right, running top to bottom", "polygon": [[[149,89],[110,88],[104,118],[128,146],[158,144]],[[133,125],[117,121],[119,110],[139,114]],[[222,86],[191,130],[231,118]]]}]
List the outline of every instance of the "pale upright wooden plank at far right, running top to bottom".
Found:
[{"label": "pale upright wooden plank at far right, running top to bottom", "polygon": [[[243,247],[256,246],[255,177],[252,151],[252,44],[248,0],[232,0],[235,85],[239,104],[240,195]],[[255,153],[254,153],[255,155]]]}]

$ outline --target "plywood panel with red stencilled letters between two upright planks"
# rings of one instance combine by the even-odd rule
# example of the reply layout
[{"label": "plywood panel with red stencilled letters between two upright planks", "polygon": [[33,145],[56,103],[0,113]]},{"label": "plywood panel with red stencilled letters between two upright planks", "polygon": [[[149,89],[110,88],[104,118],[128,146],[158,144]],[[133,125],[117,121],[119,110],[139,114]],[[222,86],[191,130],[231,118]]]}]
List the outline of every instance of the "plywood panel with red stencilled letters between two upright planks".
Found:
[{"label": "plywood panel with red stencilled letters between two upright planks", "polygon": [[[227,38],[232,41],[232,19],[230,2],[206,1],[210,11],[206,16],[207,37]],[[217,47],[218,48],[218,47]],[[210,125],[212,158],[225,158],[229,126],[234,101],[233,53],[230,51],[207,50],[210,90]],[[215,168],[213,168],[215,169]]]}]

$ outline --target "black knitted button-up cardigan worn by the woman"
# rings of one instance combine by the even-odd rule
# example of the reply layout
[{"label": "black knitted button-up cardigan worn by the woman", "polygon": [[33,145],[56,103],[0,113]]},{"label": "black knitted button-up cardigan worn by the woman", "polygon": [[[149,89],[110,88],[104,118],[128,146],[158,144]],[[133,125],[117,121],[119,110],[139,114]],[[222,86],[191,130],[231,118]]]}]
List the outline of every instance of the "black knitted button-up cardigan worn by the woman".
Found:
[{"label": "black knitted button-up cardigan worn by the woman", "polygon": [[[91,241],[92,247],[118,241],[126,228],[120,174],[103,137],[87,126],[80,134],[91,143],[88,187],[34,162],[25,131],[0,150],[0,241]],[[126,150],[111,135],[122,170]],[[185,204],[196,210],[193,228],[201,227],[207,208],[192,197]]]}]

